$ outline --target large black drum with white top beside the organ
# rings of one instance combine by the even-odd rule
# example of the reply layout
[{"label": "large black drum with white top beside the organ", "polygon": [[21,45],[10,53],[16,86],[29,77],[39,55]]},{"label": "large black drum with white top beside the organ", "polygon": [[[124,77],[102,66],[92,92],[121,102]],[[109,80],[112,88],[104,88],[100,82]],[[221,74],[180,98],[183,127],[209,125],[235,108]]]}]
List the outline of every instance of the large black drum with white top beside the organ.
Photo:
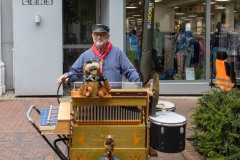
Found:
[{"label": "large black drum with white top beside the organ", "polygon": [[160,152],[178,153],[185,149],[186,118],[175,112],[157,112],[150,119],[150,146]]}]

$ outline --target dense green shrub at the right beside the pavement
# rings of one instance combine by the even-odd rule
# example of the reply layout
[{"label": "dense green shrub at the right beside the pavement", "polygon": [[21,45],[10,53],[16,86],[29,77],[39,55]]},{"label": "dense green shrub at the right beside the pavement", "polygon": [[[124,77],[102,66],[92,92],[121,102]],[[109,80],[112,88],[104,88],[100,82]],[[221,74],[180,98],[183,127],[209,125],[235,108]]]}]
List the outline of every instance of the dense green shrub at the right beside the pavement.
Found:
[{"label": "dense green shrub at the right beside the pavement", "polygon": [[240,159],[240,89],[211,90],[193,110],[193,145],[209,159]]}]

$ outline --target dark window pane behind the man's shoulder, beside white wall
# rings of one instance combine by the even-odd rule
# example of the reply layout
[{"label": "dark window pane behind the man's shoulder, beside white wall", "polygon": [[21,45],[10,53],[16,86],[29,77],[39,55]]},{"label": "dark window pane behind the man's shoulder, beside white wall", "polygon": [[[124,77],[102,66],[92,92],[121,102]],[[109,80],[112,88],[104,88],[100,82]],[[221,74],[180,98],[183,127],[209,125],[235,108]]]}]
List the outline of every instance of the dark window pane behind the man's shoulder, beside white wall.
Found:
[{"label": "dark window pane behind the man's shoulder, beside white wall", "polygon": [[92,44],[96,0],[63,0],[64,72]]}]

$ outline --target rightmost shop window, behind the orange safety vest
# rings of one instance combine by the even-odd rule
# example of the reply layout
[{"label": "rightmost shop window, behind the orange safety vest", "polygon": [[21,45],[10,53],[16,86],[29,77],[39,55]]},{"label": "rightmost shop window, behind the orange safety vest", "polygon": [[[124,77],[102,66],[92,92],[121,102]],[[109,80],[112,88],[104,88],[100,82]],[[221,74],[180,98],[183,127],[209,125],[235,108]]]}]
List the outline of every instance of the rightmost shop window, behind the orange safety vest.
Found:
[{"label": "rightmost shop window, behind the orange safety vest", "polygon": [[[215,0],[211,2],[211,70],[216,76],[216,59],[230,63],[227,74],[240,77],[240,0]],[[223,52],[227,56],[222,57]]]}]

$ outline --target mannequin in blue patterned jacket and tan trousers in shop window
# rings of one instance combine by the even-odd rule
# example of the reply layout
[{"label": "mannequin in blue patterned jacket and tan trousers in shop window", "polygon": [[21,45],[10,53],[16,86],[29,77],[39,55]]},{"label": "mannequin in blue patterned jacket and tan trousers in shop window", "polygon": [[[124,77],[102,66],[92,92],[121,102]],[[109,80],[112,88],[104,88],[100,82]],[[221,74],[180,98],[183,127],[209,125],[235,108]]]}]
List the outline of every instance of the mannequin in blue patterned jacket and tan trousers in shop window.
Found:
[{"label": "mannequin in blue patterned jacket and tan trousers in shop window", "polygon": [[184,67],[190,67],[193,56],[193,44],[191,40],[192,33],[185,30],[185,23],[181,23],[175,41],[175,54],[177,58],[176,79],[182,79],[184,76]]}]

